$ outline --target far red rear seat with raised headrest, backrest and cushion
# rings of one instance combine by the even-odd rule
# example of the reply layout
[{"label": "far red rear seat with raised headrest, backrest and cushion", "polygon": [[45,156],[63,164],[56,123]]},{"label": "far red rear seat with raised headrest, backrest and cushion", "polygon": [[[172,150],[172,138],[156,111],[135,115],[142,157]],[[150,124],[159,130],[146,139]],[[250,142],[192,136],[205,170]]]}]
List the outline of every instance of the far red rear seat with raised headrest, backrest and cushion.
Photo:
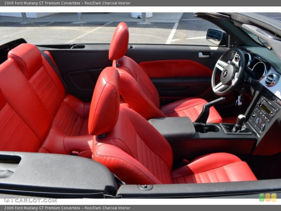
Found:
[{"label": "far red rear seat with raised headrest, backrest and cushion", "polygon": [[[52,58],[52,56],[49,54]],[[31,44],[12,49],[15,59],[35,93],[50,113],[53,123],[66,135],[88,135],[90,103],[66,95],[64,86],[40,50]]]}]

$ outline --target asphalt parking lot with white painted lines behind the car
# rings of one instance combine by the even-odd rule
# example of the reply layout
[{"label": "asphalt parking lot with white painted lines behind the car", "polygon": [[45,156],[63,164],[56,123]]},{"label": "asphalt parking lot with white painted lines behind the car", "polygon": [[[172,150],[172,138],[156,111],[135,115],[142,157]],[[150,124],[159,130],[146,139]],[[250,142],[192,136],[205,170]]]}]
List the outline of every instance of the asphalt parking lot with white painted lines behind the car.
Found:
[{"label": "asphalt parking lot with white painted lines behind the car", "polygon": [[[264,13],[281,20],[280,13]],[[131,13],[82,13],[78,22],[76,13],[60,13],[30,19],[0,16],[0,43],[24,38],[33,44],[110,43],[116,25],[125,21],[129,26],[130,43],[208,45],[208,28],[215,25],[193,13],[153,13],[152,18],[131,18]]]}]

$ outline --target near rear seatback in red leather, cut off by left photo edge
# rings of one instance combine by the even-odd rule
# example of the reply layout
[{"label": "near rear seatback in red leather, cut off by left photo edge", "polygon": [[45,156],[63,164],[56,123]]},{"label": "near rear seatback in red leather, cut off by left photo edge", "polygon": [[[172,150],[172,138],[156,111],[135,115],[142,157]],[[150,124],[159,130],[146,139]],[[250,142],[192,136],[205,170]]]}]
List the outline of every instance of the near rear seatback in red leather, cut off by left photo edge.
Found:
[{"label": "near rear seatback in red leather, cut off by left photo edge", "polygon": [[[0,79],[0,150],[37,152],[50,126],[49,114],[41,109],[36,94],[29,93],[31,89],[13,59],[0,65]],[[24,86],[26,89],[18,92]]]}]

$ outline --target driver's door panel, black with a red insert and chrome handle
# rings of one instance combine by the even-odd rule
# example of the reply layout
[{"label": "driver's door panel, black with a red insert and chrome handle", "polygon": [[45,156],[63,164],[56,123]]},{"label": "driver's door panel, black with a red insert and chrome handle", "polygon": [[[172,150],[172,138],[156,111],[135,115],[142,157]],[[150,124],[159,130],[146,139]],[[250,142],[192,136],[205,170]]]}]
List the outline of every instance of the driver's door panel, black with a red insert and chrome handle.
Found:
[{"label": "driver's door panel, black with a red insert and chrome handle", "polygon": [[191,45],[133,45],[134,59],[156,86],[161,103],[186,97],[215,98],[211,91],[213,68],[227,47]]}]

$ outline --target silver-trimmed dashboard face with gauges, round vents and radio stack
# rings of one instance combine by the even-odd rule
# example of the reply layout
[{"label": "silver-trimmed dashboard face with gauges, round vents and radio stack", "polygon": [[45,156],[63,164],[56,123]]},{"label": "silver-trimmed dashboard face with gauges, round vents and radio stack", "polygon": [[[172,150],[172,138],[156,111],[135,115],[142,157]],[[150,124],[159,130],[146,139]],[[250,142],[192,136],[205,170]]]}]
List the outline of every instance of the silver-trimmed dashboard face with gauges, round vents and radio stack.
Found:
[{"label": "silver-trimmed dashboard face with gauges, round vents and radio stack", "polygon": [[[273,124],[275,116],[281,109],[281,74],[260,55],[246,50],[243,50],[243,53],[246,80],[263,86],[261,94],[253,100],[255,103],[249,116],[249,124],[257,132],[257,135],[261,136]],[[233,60],[238,64],[239,55],[235,55]]]}]

